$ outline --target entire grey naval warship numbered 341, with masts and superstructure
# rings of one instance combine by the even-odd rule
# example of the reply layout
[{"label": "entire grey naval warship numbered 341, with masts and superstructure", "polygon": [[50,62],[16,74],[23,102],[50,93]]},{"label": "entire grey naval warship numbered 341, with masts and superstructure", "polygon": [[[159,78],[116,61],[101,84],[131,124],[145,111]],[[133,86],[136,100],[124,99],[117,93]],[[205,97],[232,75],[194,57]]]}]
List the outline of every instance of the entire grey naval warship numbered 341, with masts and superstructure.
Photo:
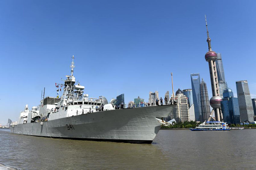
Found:
[{"label": "entire grey naval warship numbered 341, with masts and superstructure", "polygon": [[[103,98],[83,94],[84,86],[71,75],[64,80],[63,95],[44,97],[32,110],[25,106],[11,133],[62,139],[151,143],[175,104],[116,109]],[[101,107],[102,106],[102,107]]]}]

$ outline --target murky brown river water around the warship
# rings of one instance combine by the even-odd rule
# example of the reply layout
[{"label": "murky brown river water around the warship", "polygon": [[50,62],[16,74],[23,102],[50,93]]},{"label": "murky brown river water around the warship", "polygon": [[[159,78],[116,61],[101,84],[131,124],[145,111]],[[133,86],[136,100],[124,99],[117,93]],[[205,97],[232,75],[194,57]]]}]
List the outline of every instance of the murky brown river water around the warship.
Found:
[{"label": "murky brown river water around the warship", "polygon": [[0,162],[20,169],[255,169],[256,130],[160,130],[152,144],[130,144],[0,129]]}]

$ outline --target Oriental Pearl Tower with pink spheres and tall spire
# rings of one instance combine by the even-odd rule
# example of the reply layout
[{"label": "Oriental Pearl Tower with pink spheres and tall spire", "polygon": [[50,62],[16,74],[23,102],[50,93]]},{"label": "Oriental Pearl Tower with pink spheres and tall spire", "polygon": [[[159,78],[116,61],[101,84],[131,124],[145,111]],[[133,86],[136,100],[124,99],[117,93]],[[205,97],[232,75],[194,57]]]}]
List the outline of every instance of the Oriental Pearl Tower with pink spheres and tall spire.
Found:
[{"label": "Oriental Pearl Tower with pink spheres and tall spire", "polygon": [[209,51],[205,54],[204,58],[209,63],[210,77],[211,77],[211,90],[212,90],[212,98],[210,99],[210,105],[213,108],[211,114],[208,118],[208,121],[211,120],[213,113],[215,113],[216,121],[222,121],[222,112],[220,107],[220,101],[222,100],[220,97],[217,69],[216,69],[216,59],[217,53],[211,50],[211,38],[209,37],[208,25],[206,21],[206,31],[207,31],[207,43]]}]

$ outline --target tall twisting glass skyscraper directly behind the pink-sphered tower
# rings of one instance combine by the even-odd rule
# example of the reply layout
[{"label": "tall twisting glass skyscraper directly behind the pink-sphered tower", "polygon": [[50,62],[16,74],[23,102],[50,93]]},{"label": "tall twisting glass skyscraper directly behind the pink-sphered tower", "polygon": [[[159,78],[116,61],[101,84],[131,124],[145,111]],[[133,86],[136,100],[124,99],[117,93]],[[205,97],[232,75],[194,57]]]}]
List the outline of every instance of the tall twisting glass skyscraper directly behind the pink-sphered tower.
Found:
[{"label": "tall twisting glass skyscraper directly behind the pink-sphered tower", "polygon": [[223,91],[227,89],[226,86],[226,79],[224,74],[224,68],[222,63],[221,54],[217,53],[217,60],[216,60],[216,67],[217,67],[217,76],[219,81],[219,89],[220,89],[220,97],[223,98]]}]

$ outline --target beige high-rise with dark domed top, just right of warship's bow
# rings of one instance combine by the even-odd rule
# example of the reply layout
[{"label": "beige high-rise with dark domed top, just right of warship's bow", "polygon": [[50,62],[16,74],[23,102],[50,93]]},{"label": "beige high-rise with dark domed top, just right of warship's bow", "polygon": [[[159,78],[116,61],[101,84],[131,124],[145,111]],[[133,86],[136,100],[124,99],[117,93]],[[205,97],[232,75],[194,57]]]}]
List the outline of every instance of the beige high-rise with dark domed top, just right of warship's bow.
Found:
[{"label": "beige high-rise with dark domed top, just right of warship's bow", "polygon": [[178,89],[175,95],[176,107],[173,109],[172,115],[176,121],[189,121],[189,105],[187,97],[183,94],[183,91]]}]

